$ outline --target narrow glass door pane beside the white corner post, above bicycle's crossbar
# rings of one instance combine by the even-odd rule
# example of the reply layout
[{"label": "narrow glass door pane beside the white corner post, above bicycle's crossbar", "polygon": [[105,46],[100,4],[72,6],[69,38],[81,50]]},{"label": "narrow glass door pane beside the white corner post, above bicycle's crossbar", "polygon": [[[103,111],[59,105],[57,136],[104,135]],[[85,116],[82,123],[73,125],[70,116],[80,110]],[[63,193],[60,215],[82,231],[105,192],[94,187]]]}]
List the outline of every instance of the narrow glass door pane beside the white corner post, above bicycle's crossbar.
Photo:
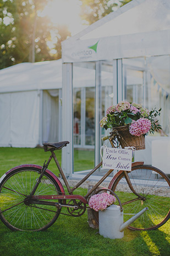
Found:
[{"label": "narrow glass door pane beside the white corner post, above bicycle's crossbar", "polygon": [[73,66],[74,172],[94,168],[95,64]]}]

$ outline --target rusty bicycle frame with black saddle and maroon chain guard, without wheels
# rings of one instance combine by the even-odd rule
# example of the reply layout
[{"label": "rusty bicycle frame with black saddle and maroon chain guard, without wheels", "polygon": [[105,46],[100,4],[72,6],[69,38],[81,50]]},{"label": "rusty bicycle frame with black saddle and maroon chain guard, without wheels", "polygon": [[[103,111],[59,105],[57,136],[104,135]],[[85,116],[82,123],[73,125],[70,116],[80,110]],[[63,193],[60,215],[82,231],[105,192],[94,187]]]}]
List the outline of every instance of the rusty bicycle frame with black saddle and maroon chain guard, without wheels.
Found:
[{"label": "rusty bicycle frame with black saddle and maroon chain guard, without wheels", "polygon": [[[109,139],[109,141],[111,142],[112,147],[114,147],[114,145],[113,145],[113,136],[110,136],[110,137],[107,136],[107,137],[104,138],[104,140],[107,140],[107,139]],[[62,142],[59,142],[59,143],[62,143]],[[67,143],[69,143],[69,142],[67,142]],[[88,193],[85,196],[76,195],[76,194],[74,195],[73,191],[76,190],[77,188],[79,188],[79,186],[81,186],[81,184],[83,184],[98,168],[100,168],[102,166],[102,162],[100,162],[94,169],[92,169],[83,179],[80,180],[80,182],[78,182],[76,185],[74,185],[73,188],[70,188],[70,185],[67,181],[67,178],[65,177],[65,175],[63,173],[63,170],[62,170],[62,168],[61,168],[61,166],[58,162],[58,159],[56,157],[56,154],[54,153],[54,150],[59,150],[59,149],[63,148],[64,146],[67,146],[67,143],[66,144],[63,143],[63,145],[61,145],[59,148],[54,147],[53,143],[43,143],[45,151],[51,151],[51,156],[49,157],[47,163],[43,164],[43,167],[41,169],[40,177],[37,180],[34,188],[32,189],[32,191],[30,193],[30,195],[25,199],[25,204],[26,204],[26,202],[28,202],[28,204],[53,205],[53,206],[56,206],[59,209],[61,209],[61,207],[73,208],[75,210],[84,209],[86,207],[86,204],[88,204],[88,201],[87,201],[88,197],[98,188],[98,186],[108,177],[108,175],[113,172],[113,169],[109,169],[108,172],[105,175],[103,175],[103,177],[92,187],[92,189],[90,189],[90,191],[88,191]],[[50,147],[50,149],[48,147]],[[65,194],[65,191],[62,191],[62,193],[59,194],[59,195],[34,195],[37,187],[39,186],[39,183],[41,182],[41,179],[43,177],[43,173],[45,173],[45,171],[46,171],[48,165],[50,164],[50,161],[51,161],[52,158],[54,159],[54,162],[56,163],[56,166],[59,170],[59,173],[61,174],[61,177],[64,181],[65,186],[67,187],[67,191],[68,191],[69,194]],[[134,162],[134,163],[132,163],[132,167],[141,166],[143,164],[144,164],[144,162]],[[133,185],[130,182],[127,171],[119,170],[116,173],[116,175],[114,175],[109,187],[108,188],[103,188],[102,190],[107,190],[110,193],[112,193],[113,195],[115,195],[116,198],[118,199],[118,202],[119,202],[119,205],[120,205],[121,209],[123,209],[122,208],[123,204],[121,204],[118,196],[111,190],[111,186],[114,183],[114,180],[116,180],[118,175],[120,175],[122,172],[124,173],[124,177],[125,177],[128,185],[129,185],[130,190],[136,196],[138,196],[138,198],[130,200],[128,202],[125,202],[124,204],[129,204],[130,202],[133,202],[133,201],[136,201],[136,200],[145,200],[145,198],[143,198],[140,194],[136,193],[135,189],[133,188]],[[60,204],[58,202],[51,202],[51,201],[49,202],[49,201],[46,201],[46,200],[62,200],[62,203]],[[66,204],[66,200],[72,200],[72,202],[75,202],[75,204],[74,205],[73,204],[71,204],[71,205]],[[79,204],[75,200],[79,200],[80,201]],[[84,206],[81,205],[82,202],[83,202]],[[84,214],[84,212],[85,212],[85,210],[80,215]],[[74,214],[73,214],[73,216],[74,216]]]}]

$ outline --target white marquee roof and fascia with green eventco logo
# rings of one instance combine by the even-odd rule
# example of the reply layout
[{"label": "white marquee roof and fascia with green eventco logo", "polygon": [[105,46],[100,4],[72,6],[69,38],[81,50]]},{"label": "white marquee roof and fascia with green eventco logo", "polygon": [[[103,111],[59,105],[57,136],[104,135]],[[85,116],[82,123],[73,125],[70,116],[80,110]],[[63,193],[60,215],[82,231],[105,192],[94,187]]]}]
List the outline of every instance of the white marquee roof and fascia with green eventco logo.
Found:
[{"label": "white marquee roof and fascia with green eventco logo", "polygon": [[62,61],[170,54],[169,12],[169,0],[133,0],[63,41]]}]

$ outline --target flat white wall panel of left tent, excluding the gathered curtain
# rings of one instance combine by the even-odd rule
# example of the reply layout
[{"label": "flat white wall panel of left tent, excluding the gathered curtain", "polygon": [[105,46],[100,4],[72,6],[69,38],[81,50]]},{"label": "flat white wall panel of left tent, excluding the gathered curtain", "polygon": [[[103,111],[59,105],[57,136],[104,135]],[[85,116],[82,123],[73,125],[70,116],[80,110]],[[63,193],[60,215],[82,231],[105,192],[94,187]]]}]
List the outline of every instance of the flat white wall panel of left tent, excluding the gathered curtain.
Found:
[{"label": "flat white wall panel of left tent, excluding the gathered curtain", "polygon": [[40,130],[39,93],[2,93],[0,109],[0,146],[36,147]]}]

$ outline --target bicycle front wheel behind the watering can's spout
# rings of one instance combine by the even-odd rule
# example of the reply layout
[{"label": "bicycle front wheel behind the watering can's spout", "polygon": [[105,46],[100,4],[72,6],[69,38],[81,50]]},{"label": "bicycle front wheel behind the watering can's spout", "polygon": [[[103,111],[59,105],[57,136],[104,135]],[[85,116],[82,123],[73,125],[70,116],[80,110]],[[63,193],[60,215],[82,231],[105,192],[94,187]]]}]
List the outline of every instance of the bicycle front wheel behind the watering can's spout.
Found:
[{"label": "bicycle front wheel behind the watering can's spout", "polygon": [[136,166],[128,173],[136,196],[129,188],[124,173],[121,173],[112,185],[123,205],[124,222],[148,207],[129,228],[131,230],[155,230],[170,217],[170,181],[166,174],[152,166]]}]

